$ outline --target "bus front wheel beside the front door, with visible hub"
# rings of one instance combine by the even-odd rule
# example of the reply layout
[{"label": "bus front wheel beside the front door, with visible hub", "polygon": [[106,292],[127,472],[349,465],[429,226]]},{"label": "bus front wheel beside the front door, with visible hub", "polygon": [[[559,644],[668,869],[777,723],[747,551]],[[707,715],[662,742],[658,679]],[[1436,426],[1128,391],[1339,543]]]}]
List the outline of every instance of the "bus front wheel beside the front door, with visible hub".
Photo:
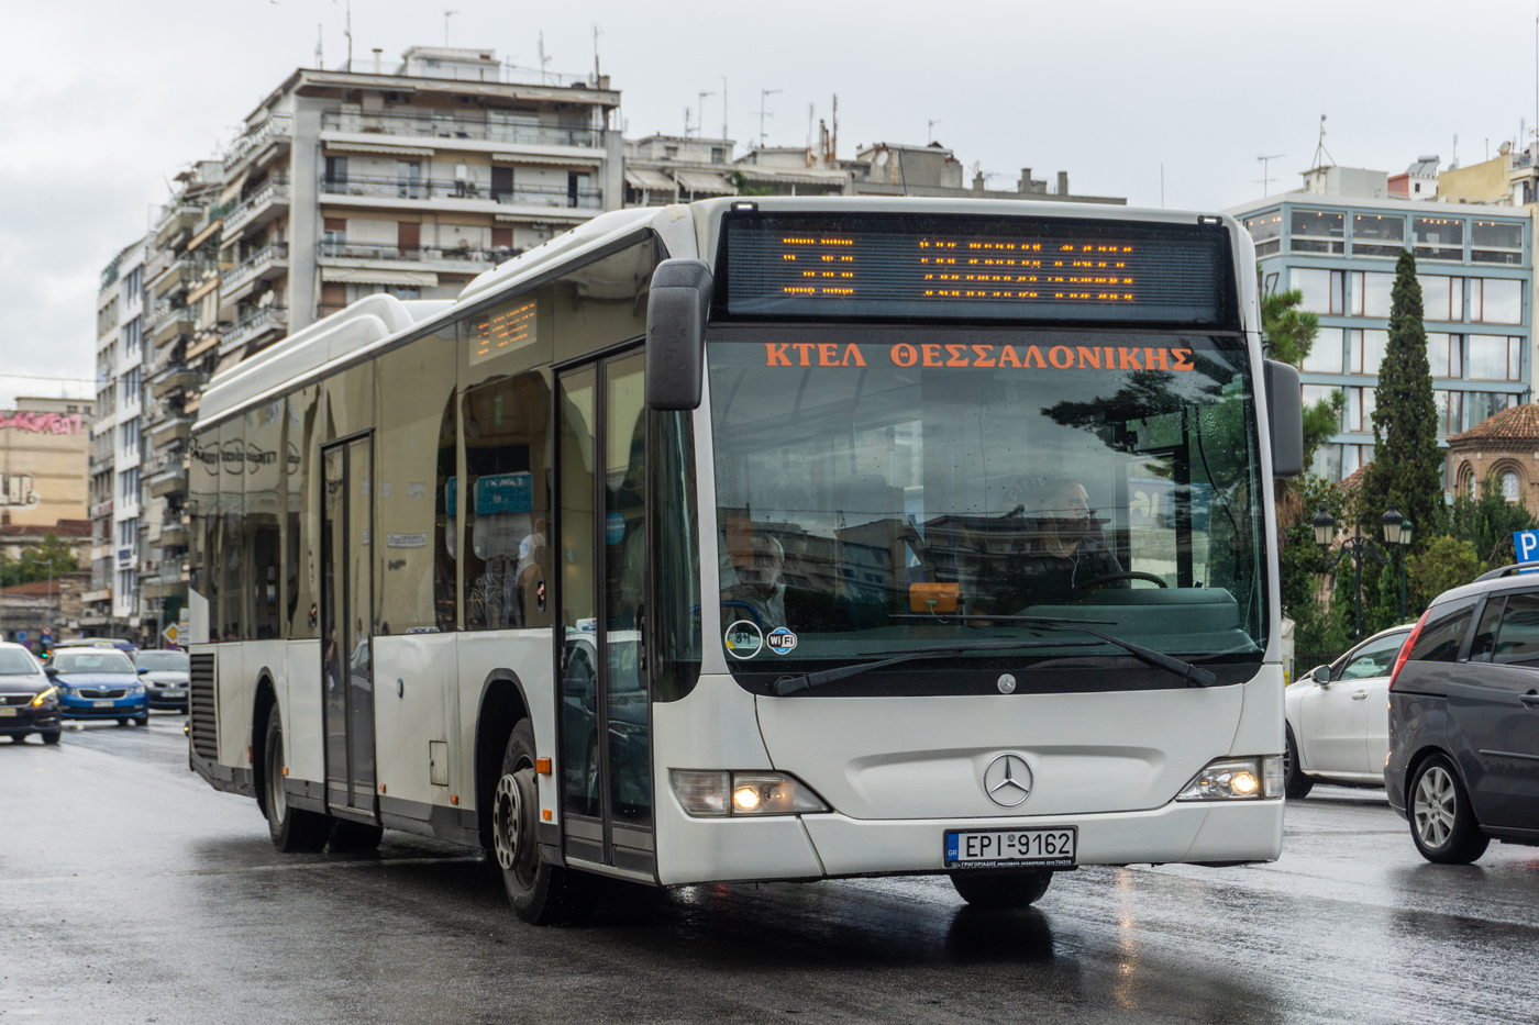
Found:
[{"label": "bus front wheel beside the front door, with visible hub", "polygon": [[492,857],[514,914],[531,925],[573,925],[593,913],[599,880],[540,860],[534,726],[520,719],[508,736],[491,805]]}]

